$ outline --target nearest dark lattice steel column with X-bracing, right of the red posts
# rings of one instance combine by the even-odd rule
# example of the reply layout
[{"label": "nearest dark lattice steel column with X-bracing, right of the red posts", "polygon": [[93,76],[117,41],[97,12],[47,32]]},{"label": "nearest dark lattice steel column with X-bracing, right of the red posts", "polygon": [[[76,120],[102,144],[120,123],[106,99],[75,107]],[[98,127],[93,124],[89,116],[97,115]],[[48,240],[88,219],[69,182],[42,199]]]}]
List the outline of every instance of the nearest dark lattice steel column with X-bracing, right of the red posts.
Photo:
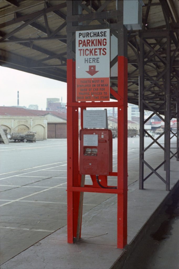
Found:
[{"label": "nearest dark lattice steel column with X-bracing, right of the red posts", "polygon": [[[165,34],[164,34],[165,33]],[[149,178],[152,174],[155,174],[160,178],[166,185],[166,190],[170,190],[170,109],[171,109],[171,50],[170,50],[170,31],[165,31],[160,35],[160,41],[157,39],[158,32],[143,32],[140,33],[140,66],[139,66],[139,109],[140,109],[140,159],[139,159],[139,189],[144,189],[144,181]],[[156,40],[156,44],[152,44],[148,40]],[[162,41],[162,42],[161,42]],[[158,47],[157,47],[158,45]],[[166,57],[163,56],[163,49],[166,51]],[[155,62],[156,57],[159,59],[162,68]],[[155,76],[151,77],[145,71],[145,66],[150,65],[153,68]],[[160,93],[159,102],[156,101],[155,106],[151,106],[153,103],[153,90],[158,88]],[[150,94],[148,92],[151,92]],[[164,94],[163,94],[164,92]],[[144,106],[148,107],[156,114],[165,124],[165,130],[160,136],[154,139],[144,129],[145,123],[152,117],[144,120]],[[156,107],[156,109],[155,109]],[[160,115],[160,109],[164,108],[165,118]],[[148,147],[144,148],[144,133],[147,133],[153,140]],[[157,141],[163,134],[164,136],[164,147]],[[164,150],[164,161],[153,168],[148,162],[145,161],[145,151],[156,143]],[[172,153],[173,154],[173,153]],[[175,154],[173,154],[174,156]],[[151,169],[144,178],[144,164]],[[164,164],[166,170],[166,179],[164,179],[157,170]]]}]

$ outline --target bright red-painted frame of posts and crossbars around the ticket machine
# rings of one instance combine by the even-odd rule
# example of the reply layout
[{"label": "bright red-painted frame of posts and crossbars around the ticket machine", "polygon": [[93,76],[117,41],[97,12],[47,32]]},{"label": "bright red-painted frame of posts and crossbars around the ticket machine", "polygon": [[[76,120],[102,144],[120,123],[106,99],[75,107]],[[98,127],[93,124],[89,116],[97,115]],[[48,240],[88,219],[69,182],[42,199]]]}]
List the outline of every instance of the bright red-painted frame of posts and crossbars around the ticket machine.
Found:
[{"label": "bright red-painted frame of posts and crossbars around the ticket machine", "polygon": [[[117,247],[127,244],[127,58],[118,56],[118,92],[110,88],[117,102],[76,102],[75,62],[67,60],[67,234],[68,243],[77,236],[78,208],[80,192],[117,194]],[[97,185],[81,187],[78,162],[78,108],[117,107],[118,145],[117,189],[103,189]],[[92,178],[92,176],[91,176]],[[105,180],[104,176],[102,178]],[[107,179],[107,178],[106,178]],[[93,180],[93,179],[92,179]],[[107,181],[106,181],[107,182]]]}]

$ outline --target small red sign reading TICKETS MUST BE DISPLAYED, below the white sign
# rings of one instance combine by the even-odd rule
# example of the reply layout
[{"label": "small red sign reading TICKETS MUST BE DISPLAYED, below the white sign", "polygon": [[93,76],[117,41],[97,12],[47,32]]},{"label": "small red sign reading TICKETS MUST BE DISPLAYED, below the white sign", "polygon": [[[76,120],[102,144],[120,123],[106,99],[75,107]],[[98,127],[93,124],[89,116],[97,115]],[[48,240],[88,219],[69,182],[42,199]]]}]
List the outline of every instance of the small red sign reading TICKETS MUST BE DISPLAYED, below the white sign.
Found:
[{"label": "small red sign reading TICKETS MUST BE DISPLAYED, below the white sign", "polygon": [[110,101],[109,77],[76,79],[76,101]]}]

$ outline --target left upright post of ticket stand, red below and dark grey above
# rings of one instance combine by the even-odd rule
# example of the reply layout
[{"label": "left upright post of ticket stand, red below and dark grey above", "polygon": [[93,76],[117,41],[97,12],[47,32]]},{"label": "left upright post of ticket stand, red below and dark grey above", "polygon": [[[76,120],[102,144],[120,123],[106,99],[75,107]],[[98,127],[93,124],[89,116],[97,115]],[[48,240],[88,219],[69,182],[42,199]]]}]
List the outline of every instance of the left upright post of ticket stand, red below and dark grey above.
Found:
[{"label": "left upright post of ticket stand, red below and dark grey above", "polygon": [[[73,15],[77,9],[77,1],[67,1],[67,16]],[[72,25],[72,23],[69,23]],[[73,34],[67,32],[67,188],[79,186],[78,182],[78,110],[68,106],[68,103],[75,102],[75,61],[73,61],[74,42],[71,42]],[[67,191],[67,225],[68,243],[73,243],[76,237],[79,192]]]}]

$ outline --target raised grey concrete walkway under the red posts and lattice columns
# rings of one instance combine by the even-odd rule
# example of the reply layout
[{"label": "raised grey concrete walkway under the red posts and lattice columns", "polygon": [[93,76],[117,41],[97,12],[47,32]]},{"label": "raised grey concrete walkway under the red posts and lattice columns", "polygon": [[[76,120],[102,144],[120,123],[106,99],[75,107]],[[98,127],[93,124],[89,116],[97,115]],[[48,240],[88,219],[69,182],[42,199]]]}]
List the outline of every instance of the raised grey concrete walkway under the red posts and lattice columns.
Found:
[{"label": "raised grey concrete walkway under the red posts and lattice columns", "polygon": [[[170,167],[172,189],[179,178],[179,162],[176,158],[171,159]],[[159,173],[164,177],[163,169]],[[128,245],[124,250],[116,248],[117,199],[113,195],[83,214],[82,238],[78,243],[67,243],[65,225],[6,261],[1,269],[120,268],[126,255],[139,243],[140,236],[157,216],[156,209],[172,192],[167,192],[165,184],[155,175],[146,180],[144,190],[139,190],[138,186],[137,180],[128,187]]]}]

